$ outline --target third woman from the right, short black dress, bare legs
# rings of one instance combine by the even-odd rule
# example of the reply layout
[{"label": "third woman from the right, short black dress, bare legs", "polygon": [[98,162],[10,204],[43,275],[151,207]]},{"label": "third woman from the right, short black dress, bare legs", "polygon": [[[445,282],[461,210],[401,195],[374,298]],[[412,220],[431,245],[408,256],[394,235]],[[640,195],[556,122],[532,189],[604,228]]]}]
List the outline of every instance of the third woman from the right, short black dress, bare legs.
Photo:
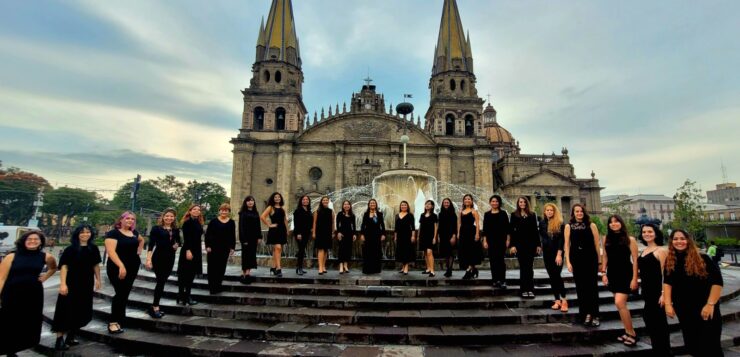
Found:
[{"label": "third woman from the right, short black dress, bare legs", "polygon": [[637,345],[637,334],[632,326],[632,315],[627,308],[629,294],[637,290],[637,241],[627,233],[622,217],[611,215],[604,239],[604,258],[601,279],[614,294],[614,305],[624,325],[624,335],[618,338],[626,346]]}]

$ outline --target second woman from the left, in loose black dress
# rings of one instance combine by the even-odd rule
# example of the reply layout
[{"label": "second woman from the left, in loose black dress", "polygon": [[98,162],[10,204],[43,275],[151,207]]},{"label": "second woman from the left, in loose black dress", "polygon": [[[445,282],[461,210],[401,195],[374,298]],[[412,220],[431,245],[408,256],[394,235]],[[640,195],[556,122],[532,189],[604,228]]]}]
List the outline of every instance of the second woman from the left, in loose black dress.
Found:
[{"label": "second woman from the left, in loose black dress", "polygon": [[75,340],[77,331],[92,320],[93,291],[99,290],[101,285],[100,250],[91,241],[93,232],[88,224],[75,228],[72,244],[64,249],[59,259],[59,296],[51,325],[51,330],[57,334],[54,348],[58,351],[79,344]]}]

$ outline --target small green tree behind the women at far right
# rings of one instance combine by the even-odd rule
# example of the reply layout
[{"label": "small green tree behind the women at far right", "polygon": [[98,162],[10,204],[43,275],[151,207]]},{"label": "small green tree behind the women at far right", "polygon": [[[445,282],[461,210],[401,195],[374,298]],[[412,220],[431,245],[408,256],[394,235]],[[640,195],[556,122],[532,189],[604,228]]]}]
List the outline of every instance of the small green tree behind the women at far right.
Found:
[{"label": "small green tree behind the women at far right", "polygon": [[673,195],[676,208],[673,210],[671,227],[685,229],[696,240],[704,240],[706,237],[704,213],[701,208],[704,196],[701,193],[701,190],[696,187],[696,182],[686,179],[686,182]]}]

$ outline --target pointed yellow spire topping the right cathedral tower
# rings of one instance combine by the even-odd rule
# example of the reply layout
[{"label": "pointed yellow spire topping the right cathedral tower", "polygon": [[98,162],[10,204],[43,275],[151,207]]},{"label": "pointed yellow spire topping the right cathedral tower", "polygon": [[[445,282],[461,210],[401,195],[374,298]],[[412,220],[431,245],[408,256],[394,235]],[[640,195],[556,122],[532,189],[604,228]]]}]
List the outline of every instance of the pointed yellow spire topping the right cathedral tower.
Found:
[{"label": "pointed yellow spire topping the right cathedral tower", "polygon": [[[434,74],[449,70],[472,72],[472,68],[467,65],[468,58],[472,58],[470,52],[470,39],[465,38],[457,1],[445,0],[439,25]],[[441,61],[440,57],[443,57]]]}]

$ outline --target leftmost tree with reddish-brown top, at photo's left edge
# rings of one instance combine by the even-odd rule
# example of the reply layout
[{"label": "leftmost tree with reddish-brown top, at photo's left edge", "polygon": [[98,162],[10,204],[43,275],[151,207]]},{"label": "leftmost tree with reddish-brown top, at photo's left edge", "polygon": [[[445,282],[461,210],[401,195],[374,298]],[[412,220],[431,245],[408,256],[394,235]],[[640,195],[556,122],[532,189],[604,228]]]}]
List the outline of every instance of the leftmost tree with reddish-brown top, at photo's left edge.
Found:
[{"label": "leftmost tree with reddish-brown top, at photo's left edge", "polygon": [[0,161],[0,222],[26,225],[33,215],[38,193],[50,189],[45,178],[17,167],[4,169]]}]

